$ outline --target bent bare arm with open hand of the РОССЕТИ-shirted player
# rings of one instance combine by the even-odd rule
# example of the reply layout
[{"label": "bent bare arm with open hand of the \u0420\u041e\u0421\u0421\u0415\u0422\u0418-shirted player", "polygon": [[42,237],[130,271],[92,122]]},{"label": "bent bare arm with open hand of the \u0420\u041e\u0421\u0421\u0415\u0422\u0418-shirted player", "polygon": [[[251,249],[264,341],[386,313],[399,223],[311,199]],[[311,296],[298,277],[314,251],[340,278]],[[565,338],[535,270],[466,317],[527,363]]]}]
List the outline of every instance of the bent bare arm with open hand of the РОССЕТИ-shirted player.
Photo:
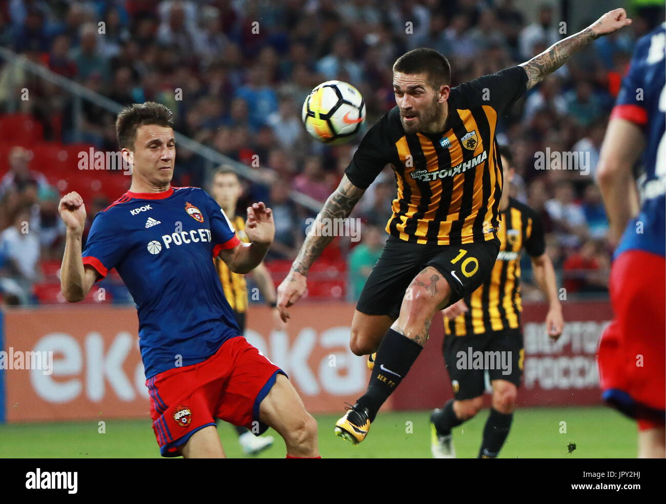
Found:
[{"label": "bent bare arm with open hand of the \u0420\u041e\u0421\u0421\u0415\u0422\u0418-shirted player", "polygon": [[245,234],[250,238],[250,243],[242,243],[220,252],[220,258],[229,269],[242,275],[252,271],[264,260],[275,236],[275,223],[270,208],[258,202],[248,206],[247,212]]}]

